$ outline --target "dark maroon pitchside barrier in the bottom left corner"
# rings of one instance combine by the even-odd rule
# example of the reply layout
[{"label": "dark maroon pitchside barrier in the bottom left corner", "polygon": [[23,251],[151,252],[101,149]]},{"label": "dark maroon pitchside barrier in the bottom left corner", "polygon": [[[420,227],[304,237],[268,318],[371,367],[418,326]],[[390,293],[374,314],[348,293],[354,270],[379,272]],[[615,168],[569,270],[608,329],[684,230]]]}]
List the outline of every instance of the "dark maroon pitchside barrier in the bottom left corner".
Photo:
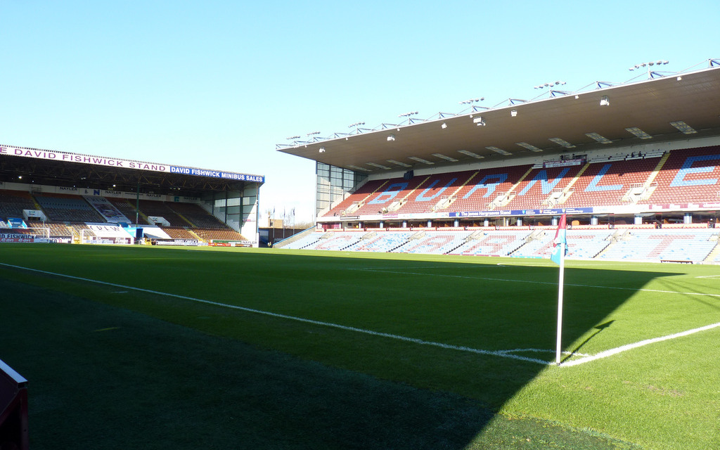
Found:
[{"label": "dark maroon pitchside barrier in the bottom left corner", "polygon": [[27,450],[27,379],[0,360],[0,449]]}]

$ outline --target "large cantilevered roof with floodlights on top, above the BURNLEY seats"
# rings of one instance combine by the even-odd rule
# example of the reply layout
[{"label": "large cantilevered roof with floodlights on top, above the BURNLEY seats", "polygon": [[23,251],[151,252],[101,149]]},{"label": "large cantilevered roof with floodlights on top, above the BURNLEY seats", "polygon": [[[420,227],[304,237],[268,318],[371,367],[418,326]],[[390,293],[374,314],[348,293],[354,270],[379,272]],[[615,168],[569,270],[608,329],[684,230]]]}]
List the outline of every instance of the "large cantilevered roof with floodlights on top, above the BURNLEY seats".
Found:
[{"label": "large cantilevered roof with floodlights on top, above the BURNLEY seats", "polygon": [[507,106],[474,107],[468,114],[438,114],[406,125],[383,124],[354,135],[278,145],[278,150],[382,173],[477,161],[510,163],[528,156],[552,159],[611,144],[720,135],[720,67],[618,86],[594,85],[590,91],[555,91],[558,96],[531,102],[508,99]]}]

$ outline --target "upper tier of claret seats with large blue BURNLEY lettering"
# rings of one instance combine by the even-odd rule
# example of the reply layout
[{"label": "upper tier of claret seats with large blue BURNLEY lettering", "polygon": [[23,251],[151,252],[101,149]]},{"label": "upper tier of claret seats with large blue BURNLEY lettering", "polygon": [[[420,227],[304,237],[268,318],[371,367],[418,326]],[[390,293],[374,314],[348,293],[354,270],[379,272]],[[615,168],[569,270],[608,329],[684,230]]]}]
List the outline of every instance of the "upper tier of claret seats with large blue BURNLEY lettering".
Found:
[{"label": "upper tier of claret seats with large blue BURNLEY lettering", "polygon": [[324,217],[720,202],[720,147],[368,181]]}]

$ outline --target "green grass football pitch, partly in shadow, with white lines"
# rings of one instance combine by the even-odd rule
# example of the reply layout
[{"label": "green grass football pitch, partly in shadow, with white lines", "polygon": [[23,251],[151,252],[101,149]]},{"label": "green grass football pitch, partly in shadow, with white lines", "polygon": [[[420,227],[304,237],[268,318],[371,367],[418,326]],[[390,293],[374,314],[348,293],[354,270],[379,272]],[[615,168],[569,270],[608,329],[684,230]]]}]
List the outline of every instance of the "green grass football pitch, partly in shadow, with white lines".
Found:
[{"label": "green grass football pitch, partly in shadow, with white lines", "polygon": [[720,269],[0,246],[32,449],[713,449]]}]

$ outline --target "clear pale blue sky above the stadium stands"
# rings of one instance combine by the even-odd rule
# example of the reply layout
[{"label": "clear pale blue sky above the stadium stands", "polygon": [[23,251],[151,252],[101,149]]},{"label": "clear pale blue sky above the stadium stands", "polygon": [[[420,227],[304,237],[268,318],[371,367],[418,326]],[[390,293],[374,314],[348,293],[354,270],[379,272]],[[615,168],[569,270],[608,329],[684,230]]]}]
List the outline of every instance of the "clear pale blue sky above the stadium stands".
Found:
[{"label": "clear pale blue sky above the stadium stands", "polygon": [[0,143],[264,175],[261,212],[296,221],[315,165],[276,152],[289,136],[720,58],[716,0],[0,0],[0,19]]}]

